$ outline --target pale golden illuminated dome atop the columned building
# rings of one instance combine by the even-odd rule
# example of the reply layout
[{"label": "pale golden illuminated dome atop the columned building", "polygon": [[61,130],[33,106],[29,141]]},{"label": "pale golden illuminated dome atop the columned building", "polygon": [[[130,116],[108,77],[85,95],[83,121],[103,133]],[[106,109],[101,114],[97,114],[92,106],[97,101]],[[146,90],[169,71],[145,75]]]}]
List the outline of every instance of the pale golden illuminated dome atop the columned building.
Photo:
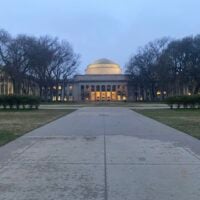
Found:
[{"label": "pale golden illuminated dome atop the columned building", "polygon": [[87,75],[122,74],[120,66],[106,58],[99,59],[88,65],[85,72]]}]

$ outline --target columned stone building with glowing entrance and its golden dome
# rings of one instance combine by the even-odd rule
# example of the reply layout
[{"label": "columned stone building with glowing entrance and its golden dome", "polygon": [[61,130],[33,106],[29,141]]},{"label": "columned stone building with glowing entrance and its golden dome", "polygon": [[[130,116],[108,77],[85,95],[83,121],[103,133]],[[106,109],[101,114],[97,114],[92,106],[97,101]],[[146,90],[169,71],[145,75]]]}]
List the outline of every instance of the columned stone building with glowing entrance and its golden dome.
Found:
[{"label": "columned stone building with glowing entrance and its golden dome", "polygon": [[89,64],[84,75],[68,85],[66,98],[74,101],[126,101],[128,77],[121,67],[106,58]]}]

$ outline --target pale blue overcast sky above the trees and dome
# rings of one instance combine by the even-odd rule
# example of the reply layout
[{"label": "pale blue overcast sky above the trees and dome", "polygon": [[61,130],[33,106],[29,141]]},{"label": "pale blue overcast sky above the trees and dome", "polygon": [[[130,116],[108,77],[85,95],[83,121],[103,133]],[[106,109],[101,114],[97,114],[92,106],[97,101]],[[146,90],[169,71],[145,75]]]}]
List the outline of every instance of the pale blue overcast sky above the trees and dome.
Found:
[{"label": "pale blue overcast sky above the trees and dome", "polygon": [[199,9],[200,0],[0,0],[0,28],[68,40],[83,73],[98,58],[123,67],[151,40],[200,33]]}]

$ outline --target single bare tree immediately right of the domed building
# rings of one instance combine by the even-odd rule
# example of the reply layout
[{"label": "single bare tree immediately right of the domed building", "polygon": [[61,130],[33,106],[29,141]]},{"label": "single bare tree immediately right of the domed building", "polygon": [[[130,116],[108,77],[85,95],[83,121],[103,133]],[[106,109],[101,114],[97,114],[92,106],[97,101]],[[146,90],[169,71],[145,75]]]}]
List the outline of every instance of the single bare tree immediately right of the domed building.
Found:
[{"label": "single bare tree immediately right of the domed building", "polygon": [[[126,65],[134,84],[140,88],[143,99],[154,100],[158,89],[160,67],[159,58],[169,44],[169,38],[149,42],[132,56]],[[139,86],[138,86],[139,85]]]}]

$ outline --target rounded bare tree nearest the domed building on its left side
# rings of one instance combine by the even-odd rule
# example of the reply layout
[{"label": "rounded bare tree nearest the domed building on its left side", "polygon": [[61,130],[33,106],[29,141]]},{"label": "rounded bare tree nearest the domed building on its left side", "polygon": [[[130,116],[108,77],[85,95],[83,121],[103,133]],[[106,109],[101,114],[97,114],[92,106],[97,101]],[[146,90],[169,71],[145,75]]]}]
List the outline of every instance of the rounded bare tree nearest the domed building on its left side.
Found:
[{"label": "rounded bare tree nearest the domed building on its left side", "polygon": [[40,87],[44,100],[53,95],[53,87],[66,81],[77,67],[79,56],[73,52],[68,42],[59,42],[57,38],[40,37],[30,50],[31,71]]}]

